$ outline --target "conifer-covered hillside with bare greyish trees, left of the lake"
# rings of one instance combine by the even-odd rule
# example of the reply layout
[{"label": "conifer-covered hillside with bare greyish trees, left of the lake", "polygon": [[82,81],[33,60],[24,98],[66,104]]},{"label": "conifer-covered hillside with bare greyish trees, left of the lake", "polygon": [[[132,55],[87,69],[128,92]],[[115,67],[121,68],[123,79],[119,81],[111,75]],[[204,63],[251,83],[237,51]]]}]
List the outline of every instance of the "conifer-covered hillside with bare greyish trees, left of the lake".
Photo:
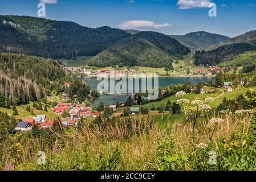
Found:
[{"label": "conifer-covered hillside with bare greyish trees, left of the lake", "polygon": [[[66,76],[61,65],[51,59],[17,53],[0,53],[0,107],[27,104],[46,94],[64,91],[70,83],[71,94],[86,97],[90,87]],[[72,85],[75,85],[72,87]]]}]

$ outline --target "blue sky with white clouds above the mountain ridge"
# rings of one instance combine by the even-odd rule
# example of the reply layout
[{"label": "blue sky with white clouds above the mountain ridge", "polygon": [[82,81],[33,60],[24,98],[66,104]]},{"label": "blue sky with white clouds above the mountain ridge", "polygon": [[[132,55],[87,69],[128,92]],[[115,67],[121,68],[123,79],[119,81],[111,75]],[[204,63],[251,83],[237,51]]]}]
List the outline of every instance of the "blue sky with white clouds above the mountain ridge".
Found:
[{"label": "blue sky with white clouds above the mountain ridge", "polygon": [[[47,19],[82,26],[157,31],[184,35],[208,31],[230,37],[256,29],[255,0],[1,0],[0,15],[38,16],[45,3]],[[209,5],[217,16],[210,17]]]}]

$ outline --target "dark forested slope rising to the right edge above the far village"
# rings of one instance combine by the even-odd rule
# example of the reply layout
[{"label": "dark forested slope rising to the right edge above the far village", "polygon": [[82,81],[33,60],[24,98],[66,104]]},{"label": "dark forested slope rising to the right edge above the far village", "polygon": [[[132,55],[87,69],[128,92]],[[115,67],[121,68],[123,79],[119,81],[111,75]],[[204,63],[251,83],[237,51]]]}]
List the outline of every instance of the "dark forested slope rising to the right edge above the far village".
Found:
[{"label": "dark forested slope rising to the right edge above the far village", "polygon": [[238,54],[256,50],[256,31],[237,36],[210,51],[196,51],[195,64],[215,65],[234,59]]}]

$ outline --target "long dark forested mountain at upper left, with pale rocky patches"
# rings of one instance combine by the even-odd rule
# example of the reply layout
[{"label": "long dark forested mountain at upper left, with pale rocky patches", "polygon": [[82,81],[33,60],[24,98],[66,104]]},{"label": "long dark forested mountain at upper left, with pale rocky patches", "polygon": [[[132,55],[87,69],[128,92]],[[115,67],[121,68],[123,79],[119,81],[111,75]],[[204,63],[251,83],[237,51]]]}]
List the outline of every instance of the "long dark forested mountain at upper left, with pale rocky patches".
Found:
[{"label": "long dark forested mountain at upper left, with pale rocky patches", "polygon": [[88,28],[73,22],[31,16],[0,16],[0,51],[68,59],[94,56],[121,39],[125,31]]}]

